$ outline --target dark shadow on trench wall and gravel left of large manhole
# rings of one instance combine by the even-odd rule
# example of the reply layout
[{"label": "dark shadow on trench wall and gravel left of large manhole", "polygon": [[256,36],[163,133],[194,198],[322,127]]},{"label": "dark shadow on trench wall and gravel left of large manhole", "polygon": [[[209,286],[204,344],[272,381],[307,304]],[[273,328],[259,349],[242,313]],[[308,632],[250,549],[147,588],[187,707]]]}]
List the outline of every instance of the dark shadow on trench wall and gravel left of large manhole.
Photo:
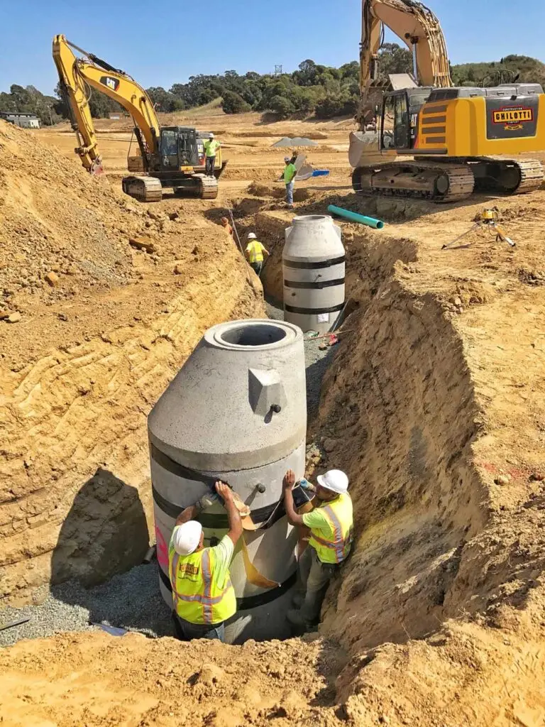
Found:
[{"label": "dark shadow on trench wall and gravel left of large manhole", "polygon": [[157,564],[142,564],[149,542],[137,489],[99,467],[62,524],[52,555],[52,595],[88,610],[90,624],[171,635]]}]

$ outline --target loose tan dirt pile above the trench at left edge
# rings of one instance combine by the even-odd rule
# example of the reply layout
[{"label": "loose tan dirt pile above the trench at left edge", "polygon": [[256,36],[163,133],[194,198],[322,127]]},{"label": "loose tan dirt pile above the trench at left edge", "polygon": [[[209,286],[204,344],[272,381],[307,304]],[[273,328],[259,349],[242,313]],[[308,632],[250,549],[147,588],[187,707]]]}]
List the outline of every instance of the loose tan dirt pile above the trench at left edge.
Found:
[{"label": "loose tan dirt pile above the trench at left edge", "polygon": [[[129,203],[129,204],[128,204]],[[0,289],[4,308],[73,297],[134,276],[126,238],[142,214],[31,133],[0,121]]]}]

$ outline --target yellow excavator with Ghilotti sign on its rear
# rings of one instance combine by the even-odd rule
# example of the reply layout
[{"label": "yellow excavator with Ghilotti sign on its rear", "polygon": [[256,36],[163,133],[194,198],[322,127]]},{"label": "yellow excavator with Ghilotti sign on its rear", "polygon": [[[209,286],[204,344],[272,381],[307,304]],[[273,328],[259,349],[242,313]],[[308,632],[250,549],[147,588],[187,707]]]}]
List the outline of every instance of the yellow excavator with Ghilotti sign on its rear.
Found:
[{"label": "yellow excavator with Ghilotti sign on its rear", "polygon": [[[393,90],[370,131],[384,26],[411,50],[413,76],[390,76]],[[363,0],[360,97],[360,131],[350,134],[349,150],[356,192],[451,202],[474,190],[530,192],[544,181],[539,161],[518,158],[545,150],[541,86],[453,87],[439,20],[420,2]]]}]

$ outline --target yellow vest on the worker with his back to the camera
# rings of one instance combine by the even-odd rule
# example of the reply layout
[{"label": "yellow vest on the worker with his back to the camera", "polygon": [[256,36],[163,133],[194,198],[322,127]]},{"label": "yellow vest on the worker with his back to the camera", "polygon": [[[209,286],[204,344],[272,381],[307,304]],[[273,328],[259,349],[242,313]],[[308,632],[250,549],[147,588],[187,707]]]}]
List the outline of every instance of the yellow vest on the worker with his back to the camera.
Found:
[{"label": "yellow vest on the worker with his back to the camera", "polygon": [[169,575],[174,610],[191,624],[219,624],[237,610],[235,589],[227,576],[220,588],[214,578],[214,548],[190,555],[169,549]]}]

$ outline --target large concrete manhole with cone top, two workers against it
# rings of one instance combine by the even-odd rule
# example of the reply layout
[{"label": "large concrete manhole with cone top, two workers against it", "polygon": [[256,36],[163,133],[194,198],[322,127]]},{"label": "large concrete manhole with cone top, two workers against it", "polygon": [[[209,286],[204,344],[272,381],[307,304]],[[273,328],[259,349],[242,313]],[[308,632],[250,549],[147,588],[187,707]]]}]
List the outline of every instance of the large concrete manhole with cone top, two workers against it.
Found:
[{"label": "large concrete manhole with cone top, two workers against it", "polygon": [[[280,503],[291,467],[304,474],[307,402],[302,332],[281,321],[246,320],[209,329],[148,419],[159,585],[172,604],[168,544],[180,511],[222,479],[251,508],[249,561],[280,587],[255,585],[235,550],[231,577],[238,613],[230,643],[289,635],[286,610],[296,579],[297,534]],[[205,545],[227,531],[219,503],[201,515]]]}]

